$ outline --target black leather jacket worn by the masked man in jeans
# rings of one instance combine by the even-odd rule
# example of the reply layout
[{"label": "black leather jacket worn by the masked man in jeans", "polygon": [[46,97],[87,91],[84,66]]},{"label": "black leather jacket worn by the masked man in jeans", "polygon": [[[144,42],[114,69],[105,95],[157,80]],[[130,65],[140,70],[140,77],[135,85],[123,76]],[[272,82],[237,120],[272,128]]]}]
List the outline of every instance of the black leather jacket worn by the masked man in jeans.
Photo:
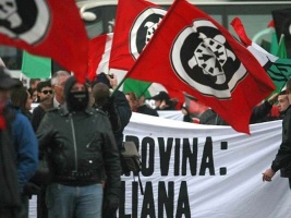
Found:
[{"label": "black leather jacket worn by the masked man in jeans", "polygon": [[84,112],[49,110],[38,130],[39,149],[46,152],[52,182],[88,185],[106,181],[109,193],[120,192],[119,152],[108,117],[93,108]]}]

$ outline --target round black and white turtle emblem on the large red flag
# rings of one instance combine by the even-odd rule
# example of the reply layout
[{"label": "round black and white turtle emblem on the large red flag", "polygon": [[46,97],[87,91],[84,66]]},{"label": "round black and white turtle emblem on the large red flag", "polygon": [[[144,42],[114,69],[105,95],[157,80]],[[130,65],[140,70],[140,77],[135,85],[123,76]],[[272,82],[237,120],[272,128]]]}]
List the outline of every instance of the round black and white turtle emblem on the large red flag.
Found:
[{"label": "round black and white turtle emblem on the large red flag", "polygon": [[184,83],[218,98],[230,98],[246,75],[225,36],[207,20],[194,21],[179,33],[171,49],[171,63]]}]

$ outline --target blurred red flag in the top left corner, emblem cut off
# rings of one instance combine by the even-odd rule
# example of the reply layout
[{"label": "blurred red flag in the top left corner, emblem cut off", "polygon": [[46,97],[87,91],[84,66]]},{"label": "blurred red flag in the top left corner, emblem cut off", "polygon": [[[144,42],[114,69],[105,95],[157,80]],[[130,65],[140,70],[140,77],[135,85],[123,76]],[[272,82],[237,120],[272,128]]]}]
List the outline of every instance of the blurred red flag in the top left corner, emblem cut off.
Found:
[{"label": "blurred red flag in the top left corner, emblem cut off", "polygon": [[74,0],[14,1],[1,8],[0,41],[50,57],[85,82],[88,37]]}]

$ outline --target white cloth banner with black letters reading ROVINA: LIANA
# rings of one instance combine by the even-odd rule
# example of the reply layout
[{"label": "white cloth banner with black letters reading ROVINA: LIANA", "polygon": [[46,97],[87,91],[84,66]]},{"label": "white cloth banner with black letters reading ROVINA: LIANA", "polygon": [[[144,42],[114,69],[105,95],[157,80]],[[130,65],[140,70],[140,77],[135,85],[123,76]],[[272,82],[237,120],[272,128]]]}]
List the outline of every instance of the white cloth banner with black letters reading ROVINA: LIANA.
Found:
[{"label": "white cloth banner with black letters reading ROVINA: LIANA", "polygon": [[288,179],[263,182],[281,142],[281,121],[251,125],[201,125],[133,113],[124,131],[142,157],[141,179],[122,177],[119,217],[291,217]]}]

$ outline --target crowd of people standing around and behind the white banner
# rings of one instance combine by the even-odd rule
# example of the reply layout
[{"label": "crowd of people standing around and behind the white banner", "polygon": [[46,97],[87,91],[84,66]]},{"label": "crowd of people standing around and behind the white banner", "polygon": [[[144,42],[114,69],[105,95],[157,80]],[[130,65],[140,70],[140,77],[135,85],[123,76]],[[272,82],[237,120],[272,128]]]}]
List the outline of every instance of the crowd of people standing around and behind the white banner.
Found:
[{"label": "crowd of people standing around and behind the white banner", "polygon": [[[116,217],[123,131],[132,112],[159,117],[160,110],[178,110],[166,92],[150,98],[151,108],[145,96],[117,87],[116,75],[81,84],[58,71],[50,80],[31,80],[26,88],[0,68],[0,217],[27,218],[32,195],[37,195],[38,218]],[[255,107],[250,120],[283,119],[282,143],[263,181],[271,181],[278,170],[291,178],[290,96],[289,80],[287,89]],[[32,102],[38,104],[33,110]],[[275,106],[280,114],[274,117]],[[193,122],[187,108],[181,110],[183,121]],[[201,123],[228,125],[210,108]]]}]

